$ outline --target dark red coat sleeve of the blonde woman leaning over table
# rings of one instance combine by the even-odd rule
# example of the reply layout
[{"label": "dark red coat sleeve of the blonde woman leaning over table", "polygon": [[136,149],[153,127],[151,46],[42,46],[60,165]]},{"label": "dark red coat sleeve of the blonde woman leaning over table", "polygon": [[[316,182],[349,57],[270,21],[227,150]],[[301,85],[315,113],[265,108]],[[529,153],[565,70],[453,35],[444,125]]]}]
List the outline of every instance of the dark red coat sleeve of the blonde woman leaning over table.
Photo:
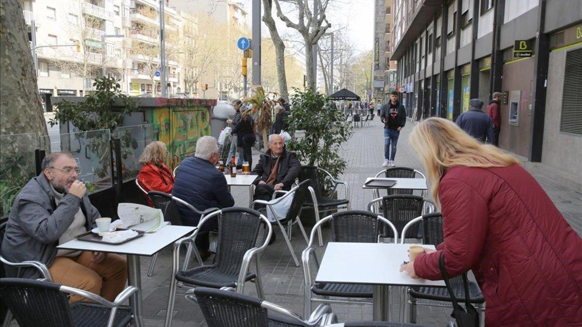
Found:
[{"label": "dark red coat sleeve of the blonde woman leaning over table", "polygon": [[437,252],[418,255],[414,272],[425,279],[442,279],[439,256],[445,253],[450,277],[469,271],[477,264],[487,236],[487,203],[469,185],[459,180],[445,180],[439,187],[443,214],[443,236]]}]

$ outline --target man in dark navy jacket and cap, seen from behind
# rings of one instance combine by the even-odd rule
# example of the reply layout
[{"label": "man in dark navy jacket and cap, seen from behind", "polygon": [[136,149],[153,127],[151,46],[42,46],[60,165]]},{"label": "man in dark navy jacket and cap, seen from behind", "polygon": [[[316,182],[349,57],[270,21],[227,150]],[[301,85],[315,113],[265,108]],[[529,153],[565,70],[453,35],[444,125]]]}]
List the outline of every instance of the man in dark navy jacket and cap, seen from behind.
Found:
[{"label": "man in dark navy jacket and cap, seen from behind", "polygon": [[491,143],[494,138],[493,122],[487,113],[481,111],[483,101],[481,99],[470,99],[469,111],[463,112],[457,117],[456,124],[467,134],[485,143]]}]

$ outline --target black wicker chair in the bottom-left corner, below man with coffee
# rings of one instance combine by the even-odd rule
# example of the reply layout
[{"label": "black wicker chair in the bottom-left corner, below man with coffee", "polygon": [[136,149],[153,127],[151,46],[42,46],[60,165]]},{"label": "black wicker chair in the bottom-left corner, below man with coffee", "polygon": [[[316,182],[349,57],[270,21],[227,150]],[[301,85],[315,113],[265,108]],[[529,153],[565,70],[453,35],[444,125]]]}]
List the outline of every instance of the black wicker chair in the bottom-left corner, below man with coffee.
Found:
[{"label": "black wicker chair in the bottom-left corner, below man with coffee", "polygon": [[[129,286],[111,302],[86,290],[26,278],[2,278],[0,289],[2,303],[10,309],[20,327],[127,326],[133,312],[122,303],[140,292],[137,287]],[[66,294],[81,296],[96,304],[69,304]]]}]

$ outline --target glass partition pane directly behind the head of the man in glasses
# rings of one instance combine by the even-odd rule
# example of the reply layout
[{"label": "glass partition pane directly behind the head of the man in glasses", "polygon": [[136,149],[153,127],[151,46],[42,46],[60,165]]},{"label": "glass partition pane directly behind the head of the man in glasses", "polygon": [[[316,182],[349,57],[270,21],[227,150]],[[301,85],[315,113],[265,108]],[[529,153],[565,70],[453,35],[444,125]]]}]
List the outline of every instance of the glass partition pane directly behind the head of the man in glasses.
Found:
[{"label": "glass partition pane directly behind the head of the man in glasses", "polygon": [[87,193],[112,186],[111,133],[108,129],[41,137],[41,148],[48,152],[69,152],[82,170],[79,179],[85,182]]}]

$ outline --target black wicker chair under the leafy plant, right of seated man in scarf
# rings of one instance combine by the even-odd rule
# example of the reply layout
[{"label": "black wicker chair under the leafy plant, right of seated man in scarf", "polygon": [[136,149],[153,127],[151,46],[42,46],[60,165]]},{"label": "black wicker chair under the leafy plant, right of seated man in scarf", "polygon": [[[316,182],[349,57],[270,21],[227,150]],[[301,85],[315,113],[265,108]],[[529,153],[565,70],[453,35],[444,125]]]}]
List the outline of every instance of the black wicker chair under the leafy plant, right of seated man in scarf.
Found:
[{"label": "black wicker chair under the leafy plant, right of seated man in scarf", "polygon": [[[321,177],[321,175],[325,177]],[[330,197],[324,197],[324,181],[325,178],[329,178],[331,183],[333,184],[333,188],[330,194],[334,194],[338,189],[338,185],[342,184],[346,189],[346,198],[344,199],[334,199]],[[299,176],[297,176],[299,182],[303,182],[304,180],[309,179],[311,188],[311,199],[307,198],[307,201],[303,204],[303,209],[310,209],[313,208],[315,214],[315,222],[317,223],[320,220],[320,213],[324,212],[327,213],[329,209],[336,208],[346,208],[350,210],[352,207],[350,205],[350,187],[346,182],[342,180],[338,180],[333,178],[331,173],[327,170],[319,168],[317,166],[303,166],[301,167],[301,171]],[[311,200],[311,201],[310,201]],[[321,236],[321,227],[317,229],[318,237],[319,237],[319,244],[323,246],[323,239]]]}]

